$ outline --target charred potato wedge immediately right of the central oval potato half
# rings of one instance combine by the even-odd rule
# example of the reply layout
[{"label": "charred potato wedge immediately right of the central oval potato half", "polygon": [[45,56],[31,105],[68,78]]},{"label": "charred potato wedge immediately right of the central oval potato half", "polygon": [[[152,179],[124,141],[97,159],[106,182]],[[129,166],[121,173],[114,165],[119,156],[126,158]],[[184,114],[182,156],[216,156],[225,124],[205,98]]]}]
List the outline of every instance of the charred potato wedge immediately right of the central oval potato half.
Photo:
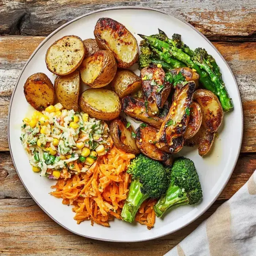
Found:
[{"label": "charred potato wedge immediately right of the central oval potato half", "polygon": [[123,111],[130,117],[144,123],[150,124],[155,128],[160,128],[164,118],[155,116],[150,117],[146,112],[145,101],[142,98],[126,96],[122,99]]}]

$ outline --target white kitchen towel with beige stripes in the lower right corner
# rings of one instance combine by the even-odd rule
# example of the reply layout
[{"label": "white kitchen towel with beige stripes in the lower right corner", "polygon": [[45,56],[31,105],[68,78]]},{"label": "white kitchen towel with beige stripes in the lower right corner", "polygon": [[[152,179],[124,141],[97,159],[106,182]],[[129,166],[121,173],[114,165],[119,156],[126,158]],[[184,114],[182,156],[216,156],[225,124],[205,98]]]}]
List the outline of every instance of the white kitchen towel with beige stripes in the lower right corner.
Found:
[{"label": "white kitchen towel with beige stripes in the lower right corner", "polygon": [[256,171],[165,256],[256,256]]}]

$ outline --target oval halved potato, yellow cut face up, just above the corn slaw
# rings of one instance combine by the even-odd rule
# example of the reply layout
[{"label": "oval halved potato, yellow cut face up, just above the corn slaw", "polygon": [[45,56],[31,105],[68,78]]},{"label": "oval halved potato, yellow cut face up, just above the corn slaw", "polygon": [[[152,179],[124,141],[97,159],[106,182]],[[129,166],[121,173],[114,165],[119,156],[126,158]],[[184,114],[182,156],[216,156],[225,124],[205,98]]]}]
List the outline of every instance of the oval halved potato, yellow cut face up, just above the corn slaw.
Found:
[{"label": "oval halved potato, yellow cut face up, just above the corn slaw", "polygon": [[116,93],[106,89],[88,89],[79,97],[80,108],[91,117],[112,120],[121,112],[121,102]]}]

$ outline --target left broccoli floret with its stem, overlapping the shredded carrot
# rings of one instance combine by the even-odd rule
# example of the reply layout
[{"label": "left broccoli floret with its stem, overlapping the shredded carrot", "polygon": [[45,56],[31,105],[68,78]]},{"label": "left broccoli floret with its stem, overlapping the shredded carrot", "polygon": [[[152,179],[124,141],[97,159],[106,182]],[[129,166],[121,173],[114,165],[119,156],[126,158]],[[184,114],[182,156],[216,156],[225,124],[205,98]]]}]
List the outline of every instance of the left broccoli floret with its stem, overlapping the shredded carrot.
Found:
[{"label": "left broccoli floret with its stem, overlapping the shredded carrot", "polygon": [[165,193],[169,185],[169,168],[140,154],[132,161],[127,172],[132,174],[132,182],[121,217],[124,221],[133,222],[144,200],[158,198]]}]

